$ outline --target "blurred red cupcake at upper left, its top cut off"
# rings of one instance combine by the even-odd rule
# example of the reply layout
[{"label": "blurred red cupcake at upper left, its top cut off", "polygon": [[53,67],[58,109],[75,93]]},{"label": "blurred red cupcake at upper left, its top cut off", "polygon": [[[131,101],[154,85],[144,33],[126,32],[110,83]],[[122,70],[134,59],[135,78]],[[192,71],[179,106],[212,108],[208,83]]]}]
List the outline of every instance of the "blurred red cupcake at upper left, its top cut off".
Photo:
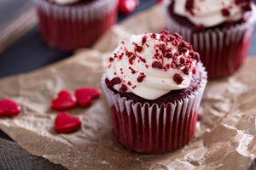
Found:
[{"label": "blurred red cupcake at upper left, its top cut off", "polygon": [[41,37],[49,46],[89,48],[117,20],[118,0],[35,0]]}]

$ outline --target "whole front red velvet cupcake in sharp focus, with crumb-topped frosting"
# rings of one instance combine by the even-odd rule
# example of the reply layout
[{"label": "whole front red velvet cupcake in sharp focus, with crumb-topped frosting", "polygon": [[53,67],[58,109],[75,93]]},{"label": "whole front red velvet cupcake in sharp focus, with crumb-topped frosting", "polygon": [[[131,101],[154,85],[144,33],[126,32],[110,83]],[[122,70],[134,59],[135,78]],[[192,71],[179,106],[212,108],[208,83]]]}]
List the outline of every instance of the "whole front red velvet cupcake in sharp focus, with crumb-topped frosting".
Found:
[{"label": "whole front red velvet cupcake in sharp focus, with crumb-topped frosting", "polygon": [[120,42],[102,76],[117,140],[154,154],[187,144],[206,84],[199,54],[177,33],[145,33]]}]

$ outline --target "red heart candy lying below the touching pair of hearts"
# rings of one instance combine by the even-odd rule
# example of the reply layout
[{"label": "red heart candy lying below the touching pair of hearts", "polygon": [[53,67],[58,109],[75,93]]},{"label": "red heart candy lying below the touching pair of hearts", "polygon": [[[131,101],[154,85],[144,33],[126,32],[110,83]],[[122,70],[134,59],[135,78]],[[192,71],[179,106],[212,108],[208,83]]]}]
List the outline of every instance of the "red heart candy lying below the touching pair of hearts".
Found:
[{"label": "red heart candy lying below the touching pair of hearts", "polygon": [[73,117],[66,112],[60,113],[55,118],[55,130],[57,133],[70,133],[81,127],[79,117]]}]

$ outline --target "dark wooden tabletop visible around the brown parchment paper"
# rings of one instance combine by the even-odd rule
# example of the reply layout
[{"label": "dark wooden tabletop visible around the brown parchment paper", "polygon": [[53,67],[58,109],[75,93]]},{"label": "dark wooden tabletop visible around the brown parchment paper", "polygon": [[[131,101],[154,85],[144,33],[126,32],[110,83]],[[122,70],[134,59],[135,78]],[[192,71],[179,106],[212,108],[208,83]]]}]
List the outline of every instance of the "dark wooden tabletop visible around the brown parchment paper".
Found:
[{"label": "dark wooden tabletop visible around the brown parchment paper", "polygon": [[[140,6],[133,14],[143,11],[154,4],[154,0],[141,0]],[[125,20],[125,18],[133,14],[126,16],[119,15],[119,21]],[[255,46],[256,31],[254,30],[249,55],[256,55]],[[72,54],[73,52],[63,52],[49,48],[42,42],[39,36],[38,26],[34,26],[0,54],[0,77],[33,71],[44,65],[49,65],[61,59],[67,59]],[[0,169],[66,169],[61,165],[55,165],[45,160],[43,157],[32,156],[19,145],[15,144],[15,142],[12,142],[12,139],[1,130],[0,138],[2,138],[0,139]],[[253,169],[256,169],[255,161],[253,161],[252,166],[249,168],[249,170]]]}]

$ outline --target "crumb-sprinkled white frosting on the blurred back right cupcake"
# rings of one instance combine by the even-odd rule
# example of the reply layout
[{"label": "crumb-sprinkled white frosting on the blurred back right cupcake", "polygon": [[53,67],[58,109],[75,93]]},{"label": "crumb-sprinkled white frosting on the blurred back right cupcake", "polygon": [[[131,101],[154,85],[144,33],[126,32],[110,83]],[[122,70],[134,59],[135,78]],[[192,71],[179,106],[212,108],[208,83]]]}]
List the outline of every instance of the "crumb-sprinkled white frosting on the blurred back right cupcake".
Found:
[{"label": "crumb-sprinkled white frosting on the blurred back right cupcake", "polygon": [[175,14],[204,27],[242,20],[252,8],[253,0],[174,0]]}]

